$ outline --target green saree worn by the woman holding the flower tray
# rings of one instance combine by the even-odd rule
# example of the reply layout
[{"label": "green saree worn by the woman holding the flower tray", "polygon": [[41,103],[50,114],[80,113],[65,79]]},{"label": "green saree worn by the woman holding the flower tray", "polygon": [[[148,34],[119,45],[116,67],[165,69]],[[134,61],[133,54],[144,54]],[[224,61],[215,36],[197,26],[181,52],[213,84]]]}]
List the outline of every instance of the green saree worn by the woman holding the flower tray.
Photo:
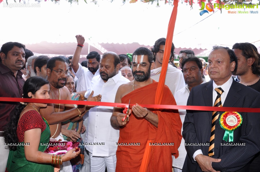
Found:
[{"label": "green saree worn by the woman holding the flower tray", "polygon": [[[50,128],[47,121],[43,119],[46,123],[46,129],[41,133],[40,143],[49,143],[50,140]],[[24,142],[22,142],[24,143]],[[44,152],[47,146],[42,146],[39,144],[39,151]],[[12,172],[53,172],[54,167],[52,164],[40,164],[35,162],[27,161],[24,154],[24,146],[17,146],[16,151],[9,151],[6,171]]]}]

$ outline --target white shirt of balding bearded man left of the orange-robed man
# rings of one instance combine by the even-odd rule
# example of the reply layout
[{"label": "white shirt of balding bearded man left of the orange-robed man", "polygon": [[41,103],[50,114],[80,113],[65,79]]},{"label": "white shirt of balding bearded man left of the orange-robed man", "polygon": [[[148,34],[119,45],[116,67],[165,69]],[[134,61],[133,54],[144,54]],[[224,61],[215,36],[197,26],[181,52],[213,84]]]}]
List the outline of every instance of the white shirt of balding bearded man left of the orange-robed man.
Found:
[{"label": "white shirt of balding bearded man left of the orange-robed man", "polygon": [[[105,83],[100,75],[93,77],[85,97],[88,97],[93,90],[94,95],[102,95],[101,102],[115,102],[115,94],[120,85],[128,83],[129,80],[122,76],[118,71],[114,77],[109,78]],[[111,156],[116,154],[117,146],[115,143],[119,139],[119,128],[113,128],[110,118],[114,107],[95,106],[89,110],[88,126],[86,129],[86,143],[104,143],[104,145],[85,145],[86,149],[93,156]]]}]

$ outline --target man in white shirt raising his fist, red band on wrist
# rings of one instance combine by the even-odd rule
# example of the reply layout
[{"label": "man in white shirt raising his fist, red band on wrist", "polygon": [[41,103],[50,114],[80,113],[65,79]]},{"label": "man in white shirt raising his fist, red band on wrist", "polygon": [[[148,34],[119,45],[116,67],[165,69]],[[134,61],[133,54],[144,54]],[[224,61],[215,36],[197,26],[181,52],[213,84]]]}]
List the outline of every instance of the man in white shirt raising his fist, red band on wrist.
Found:
[{"label": "man in white shirt raising his fist, red band on wrist", "polygon": [[[71,67],[72,67],[72,72],[78,78],[77,87],[76,87],[77,93],[85,94],[90,86],[92,78],[94,76],[99,75],[98,69],[99,69],[100,55],[96,51],[91,51],[87,55],[88,68],[81,66],[81,64],[79,63],[80,53],[83,48],[85,39],[82,35],[76,35],[76,38],[77,38],[78,44],[77,44],[76,50],[75,50],[72,60],[71,60]],[[83,124],[87,128],[88,114],[83,116]],[[86,132],[82,133],[81,137],[82,137],[82,140],[85,140]],[[89,157],[88,152],[85,150],[84,165],[80,171],[89,172],[90,164],[89,164],[88,157]]]}]

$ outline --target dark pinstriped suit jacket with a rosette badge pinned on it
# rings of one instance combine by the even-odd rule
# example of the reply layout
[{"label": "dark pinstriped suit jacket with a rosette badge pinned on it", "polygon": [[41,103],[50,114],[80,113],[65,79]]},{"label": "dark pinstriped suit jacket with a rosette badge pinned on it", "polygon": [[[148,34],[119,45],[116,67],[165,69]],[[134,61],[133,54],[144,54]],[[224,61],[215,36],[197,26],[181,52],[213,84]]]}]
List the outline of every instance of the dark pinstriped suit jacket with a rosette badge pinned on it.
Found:
[{"label": "dark pinstriped suit jacket with a rosette badge pinned on it", "polygon": [[[188,106],[212,106],[213,81],[193,87],[188,98]],[[260,93],[233,80],[223,107],[260,107]],[[220,113],[219,118],[223,112]],[[225,130],[220,124],[215,127],[215,155],[221,159],[212,163],[217,171],[248,171],[248,163],[260,151],[259,113],[241,113],[243,122],[234,133],[233,142],[223,140]],[[219,120],[219,119],[218,119]],[[211,134],[212,111],[187,110],[183,123],[185,143],[209,143]],[[245,146],[221,146],[221,143],[245,143]],[[202,171],[193,154],[201,149],[208,155],[209,146],[185,146],[187,150],[183,171]]]}]

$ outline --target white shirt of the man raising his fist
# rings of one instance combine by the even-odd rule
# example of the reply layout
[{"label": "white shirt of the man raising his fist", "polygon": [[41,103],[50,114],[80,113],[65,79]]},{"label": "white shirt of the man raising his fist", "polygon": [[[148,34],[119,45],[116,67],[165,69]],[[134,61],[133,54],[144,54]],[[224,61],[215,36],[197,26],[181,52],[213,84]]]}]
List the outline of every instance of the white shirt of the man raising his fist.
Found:
[{"label": "white shirt of the man raising his fist", "polygon": [[85,91],[88,90],[91,80],[94,76],[99,75],[99,70],[96,71],[95,75],[93,75],[92,72],[90,72],[88,70],[88,68],[81,66],[81,64],[79,63],[79,69],[77,70],[77,72],[75,73],[73,68],[72,68],[72,72],[75,74],[75,76],[78,79],[77,81],[77,91]]}]

